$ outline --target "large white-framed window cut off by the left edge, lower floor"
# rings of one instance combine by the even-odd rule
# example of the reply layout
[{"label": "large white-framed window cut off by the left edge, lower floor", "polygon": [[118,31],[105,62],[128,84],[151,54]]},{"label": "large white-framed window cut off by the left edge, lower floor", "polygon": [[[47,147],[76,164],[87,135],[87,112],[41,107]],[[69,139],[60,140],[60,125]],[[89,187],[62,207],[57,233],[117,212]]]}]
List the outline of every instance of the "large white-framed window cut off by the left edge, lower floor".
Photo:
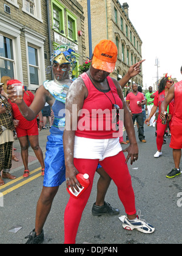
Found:
[{"label": "large white-framed window cut off by the left edge, lower floor", "polygon": [[14,57],[12,39],[0,35],[0,74],[14,77]]}]

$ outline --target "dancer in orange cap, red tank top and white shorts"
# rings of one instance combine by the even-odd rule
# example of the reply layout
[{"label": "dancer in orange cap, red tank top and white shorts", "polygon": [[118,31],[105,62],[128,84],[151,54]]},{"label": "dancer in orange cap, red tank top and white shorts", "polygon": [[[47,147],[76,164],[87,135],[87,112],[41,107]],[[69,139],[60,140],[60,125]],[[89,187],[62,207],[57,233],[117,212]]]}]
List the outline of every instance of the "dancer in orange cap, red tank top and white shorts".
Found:
[{"label": "dancer in orange cap, red tank top and white shorts", "polygon": [[[110,40],[101,40],[93,51],[89,70],[83,76],[79,76],[70,86],[66,97],[66,126],[63,134],[64,158],[66,165],[66,185],[73,193],[82,188],[76,174],[88,174],[90,185],[77,199],[70,196],[64,213],[64,243],[75,244],[76,233],[84,208],[86,207],[92,191],[93,178],[96,166],[101,163],[104,171],[112,178],[118,188],[118,196],[123,203],[126,215],[121,216],[123,228],[136,229],[144,233],[153,233],[155,228],[136,215],[135,194],[127,167],[130,158],[132,164],[138,159],[138,145],[136,143],[135,130],[132,118],[123,99],[122,84],[127,84],[130,76],[123,77],[122,83],[109,77],[115,69],[118,49]],[[137,66],[132,66],[136,70]],[[73,109],[73,105],[76,108]],[[129,136],[130,144],[123,152],[128,155],[125,158],[118,137],[110,129],[99,129],[100,126],[92,124],[100,121],[100,115],[94,115],[93,110],[103,114],[116,110],[117,118],[113,121],[112,115],[109,123],[120,125],[120,110],[124,112],[124,127]],[[74,110],[74,111],[73,111]],[[101,111],[98,111],[101,110]],[[117,113],[118,112],[118,113]],[[84,115],[83,115],[84,114]],[[75,119],[72,117],[76,116]],[[103,115],[102,115],[103,116]],[[103,127],[106,124],[106,116],[103,118]],[[91,126],[90,122],[91,121]],[[93,121],[93,123],[92,123]],[[96,121],[96,122],[95,122]],[[81,126],[80,126],[81,124]],[[76,128],[76,129],[75,129]]]}]

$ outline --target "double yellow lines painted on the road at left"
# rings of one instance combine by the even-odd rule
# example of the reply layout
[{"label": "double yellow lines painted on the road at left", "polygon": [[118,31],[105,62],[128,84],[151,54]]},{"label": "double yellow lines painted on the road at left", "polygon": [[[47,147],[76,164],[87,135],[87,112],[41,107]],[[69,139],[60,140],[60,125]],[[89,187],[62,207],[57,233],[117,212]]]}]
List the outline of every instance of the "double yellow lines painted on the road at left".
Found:
[{"label": "double yellow lines painted on the road at left", "polygon": [[[33,174],[33,173],[39,171],[40,169],[41,169],[41,168],[35,169],[34,171],[30,172],[30,174]],[[31,182],[32,180],[35,180],[36,178],[38,178],[39,176],[41,176],[41,174],[42,174],[42,173],[40,172],[40,173],[36,174],[35,176],[30,177],[29,179],[26,179],[26,180],[24,180],[24,181],[21,182],[21,183],[18,183],[17,185],[13,186],[12,188],[8,188],[8,190],[5,190],[5,191],[3,191],[3,192],[0,193],[0,197],[4,196],[5,194],[8,194],[8,193],[12,192],[13,190],[16,190],[17,188],[22,187],[23,185],[25,185],[26,183]],[[12,180],[12,182],[8,182],[7,184],[5,184],[5,185],[3,186],[3,188],[5,188],[5,187],[7,187],[8,185],[11,185],[11,184],[17,182],[18,180],[21,180],[21,179],[24,179],[24,177],[19,177],[19,178],[15,179],[15,180]],[[1,189],[2,189],[2,188],[1,188]]]}]

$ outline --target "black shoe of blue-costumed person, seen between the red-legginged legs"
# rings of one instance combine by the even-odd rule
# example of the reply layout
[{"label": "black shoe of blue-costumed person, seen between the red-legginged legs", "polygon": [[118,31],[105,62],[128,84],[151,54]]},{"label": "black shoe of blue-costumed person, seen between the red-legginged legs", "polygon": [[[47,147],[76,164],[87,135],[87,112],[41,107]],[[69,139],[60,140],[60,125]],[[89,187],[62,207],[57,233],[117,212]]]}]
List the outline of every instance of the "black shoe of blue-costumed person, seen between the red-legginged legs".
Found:
[{"label": "black shoe of blue-costumed person, seen between the red-legginged legs", "polygon": [[104,202],[104,205],[98,206],[93,204],[92,215],[101,216],[101,215],[118,215],[120,211],[116,208],[113,208],[109,203]]}]

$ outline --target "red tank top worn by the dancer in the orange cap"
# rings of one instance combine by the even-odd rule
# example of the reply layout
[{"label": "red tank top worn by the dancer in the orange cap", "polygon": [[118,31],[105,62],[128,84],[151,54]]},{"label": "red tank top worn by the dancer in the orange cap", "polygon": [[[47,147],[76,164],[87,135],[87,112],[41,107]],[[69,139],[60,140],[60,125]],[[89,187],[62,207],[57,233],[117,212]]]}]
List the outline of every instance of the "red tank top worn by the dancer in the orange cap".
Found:
[{"label": "red tank top worn by the dancer in the orange cap", "polygon": [[116,122],[112,124],[112,108],[113,104],[117,104],[121,109],[123,102],[118,96],[115,84],[108,76],[110,90],[101,91],[92,84],[87,73],[81,74],[81,77],[89,93],[79,113],[75,135],[93,139],[116,138]]}]

